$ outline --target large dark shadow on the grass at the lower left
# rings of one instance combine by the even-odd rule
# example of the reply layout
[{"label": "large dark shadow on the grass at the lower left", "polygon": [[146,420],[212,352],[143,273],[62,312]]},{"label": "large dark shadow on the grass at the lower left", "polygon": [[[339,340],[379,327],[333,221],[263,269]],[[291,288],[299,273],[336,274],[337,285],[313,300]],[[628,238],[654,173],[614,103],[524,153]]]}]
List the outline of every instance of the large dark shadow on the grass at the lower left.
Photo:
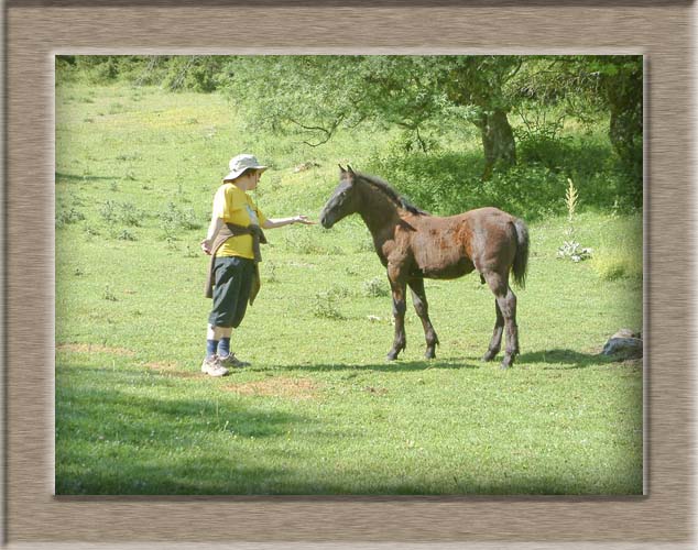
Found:
[{"label": "large dark shadow on the grass at the lower left", "polygon": [[[56,495],[266,493],[266,480],[288,474],[283,459],[293,453],[276,447],[287,433],[310,427],[313,437],[346,437],[313,428],[312,417],[218,393],[153,393],[142,373],[68,369],[81,376],[56,380]],[[277,470],[259,460],[282,451]]]}]

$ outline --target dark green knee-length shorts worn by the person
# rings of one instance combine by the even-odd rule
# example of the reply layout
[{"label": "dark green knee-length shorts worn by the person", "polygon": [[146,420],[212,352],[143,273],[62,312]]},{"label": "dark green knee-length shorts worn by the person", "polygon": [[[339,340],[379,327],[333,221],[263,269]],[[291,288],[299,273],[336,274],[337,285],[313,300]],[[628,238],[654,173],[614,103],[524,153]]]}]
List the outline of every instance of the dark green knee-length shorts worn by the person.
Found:
[{"label": "dark green knee-length shorts worn by the person", "polygon": [[214,277],[214,308],[208,316],[208,323],[238,328],[248,309],[254,261],[239,256],[217,257]]}]

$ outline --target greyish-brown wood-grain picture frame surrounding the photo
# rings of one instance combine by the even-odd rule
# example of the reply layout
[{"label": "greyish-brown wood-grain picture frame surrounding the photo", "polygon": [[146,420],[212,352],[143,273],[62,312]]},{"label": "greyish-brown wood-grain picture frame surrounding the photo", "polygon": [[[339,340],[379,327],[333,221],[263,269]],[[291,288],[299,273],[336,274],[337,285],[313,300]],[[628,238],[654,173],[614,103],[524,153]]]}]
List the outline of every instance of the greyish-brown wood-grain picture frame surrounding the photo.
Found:
[{"label": "greyish-brown wood-grain picture frame surrounding the photo", "polygon": [[[687,1],[641,0],[382,7],[360,0],[10,1],[4,541],[18,548],[70,541],[95,548],[688,548],[696,532],[689,309],[694,11]],[[241,22],[248,29],[253,22],[255,30],[243,46],[231,38]],[[645,55],[645,496],[53,496],[54,55],[199,52]]]}]

